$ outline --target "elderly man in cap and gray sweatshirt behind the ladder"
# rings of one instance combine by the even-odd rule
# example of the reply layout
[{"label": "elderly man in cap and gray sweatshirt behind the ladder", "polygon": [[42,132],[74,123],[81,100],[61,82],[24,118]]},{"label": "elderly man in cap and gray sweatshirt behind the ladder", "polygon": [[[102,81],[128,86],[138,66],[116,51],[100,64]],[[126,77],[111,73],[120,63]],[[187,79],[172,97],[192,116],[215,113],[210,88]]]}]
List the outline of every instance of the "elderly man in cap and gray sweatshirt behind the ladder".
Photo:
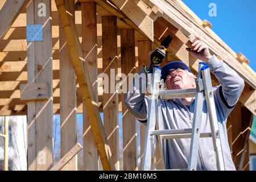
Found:
[{"label": "elderly man in cap and gray sweatshirt behind the ladder", "polygon": [[[187,48],[187,51],[195,56],[196,59],[207,63],[210,72],[216,76],[220,83],[219,86],[213,89],[225,169],[236,170],[228,144],[226,119],[242,93],[244,81],[222,60],[218,60],[215,55],[210,55],[208,47],[201,41],[200,37],[197,37],[196,42],[192,44],[192,48]],[[139,74],[143,73],[144,70],[141,69]],[[162,78],[165,81],[167,89],[195,88],[195,76],[182,61],[173,61],[164,65],[162,68]],[[146,123],[149,101],[144,93],[142,86],[136,88],[136,85],[134,85],[134,92],[125,94],[124,102],[138,121]],[[195,98],[161,100],[160,102],[164,129],[187,129],[192,127]],[[205,100],[200,130],[201,133],[210,132]],[[188,167],[190,140],[190,138],[167,140],[167,146],[165,147],[167,169]],[[215,159],[212,138],[200,138],[197,170],[216,170]]]}]

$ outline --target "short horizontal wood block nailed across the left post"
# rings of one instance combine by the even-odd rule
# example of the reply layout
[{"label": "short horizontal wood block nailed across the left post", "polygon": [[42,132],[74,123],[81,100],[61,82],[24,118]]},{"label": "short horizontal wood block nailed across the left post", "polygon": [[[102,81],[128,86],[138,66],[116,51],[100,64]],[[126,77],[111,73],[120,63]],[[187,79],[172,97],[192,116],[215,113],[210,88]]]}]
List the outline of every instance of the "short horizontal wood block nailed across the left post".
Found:
[{"label": "short horizontal wood block nailed across the left post", "polygon": [[20,100],[39,101],[48,100],[51,97],[47,82],[20,84]]}]

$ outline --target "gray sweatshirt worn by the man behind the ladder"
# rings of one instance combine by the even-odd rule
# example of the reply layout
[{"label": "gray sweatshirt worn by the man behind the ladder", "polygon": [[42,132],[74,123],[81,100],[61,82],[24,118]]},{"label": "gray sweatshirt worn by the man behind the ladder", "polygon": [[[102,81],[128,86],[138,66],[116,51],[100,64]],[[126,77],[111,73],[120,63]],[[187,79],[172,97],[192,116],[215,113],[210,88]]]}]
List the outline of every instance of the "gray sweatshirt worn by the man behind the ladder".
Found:
[{"label": "gray sweatshirt worn by the man behind the ladder", "polygon": [[[228,134],[226,131],[226,119],[242,93],[244,81],[222,60],[218,60],[215,55],[209,59],[207,64],[210,67],[210,72],[212,72],[220,82],[220,85],[214,86],[213,89],[225,169],[236,170],[229,149]],[[144,73],[143,69],[138,72],[138,74],[142,73]],[[138,86],[134,84],[133,88],[134,92],[127,92],[127,94],[125,94],[125,105],[129,111],[131,111],[134,117],[138,119],[138,121],[146,123],[148,104],[150,103],[150,100],[148,100],[148,97],[145,96],[145,92],[142,92],[143,87],[141,85]],[[159,123],[159,128],[188,129],[192,127],[195,100],[192,101],[190,106],[185,106],[180,99],[161,100],[160,103],[163,119]],[[200,130],[201,133],[210,132],[210,124],[205,100]],[[166,150],[164,153],[167,154],[166,169],[188,167],[190,142],[190,138],[185,138],[168,139],[164,143],[164,148]],[[217,170],[212,138],[200,138],[197,170]]]}]

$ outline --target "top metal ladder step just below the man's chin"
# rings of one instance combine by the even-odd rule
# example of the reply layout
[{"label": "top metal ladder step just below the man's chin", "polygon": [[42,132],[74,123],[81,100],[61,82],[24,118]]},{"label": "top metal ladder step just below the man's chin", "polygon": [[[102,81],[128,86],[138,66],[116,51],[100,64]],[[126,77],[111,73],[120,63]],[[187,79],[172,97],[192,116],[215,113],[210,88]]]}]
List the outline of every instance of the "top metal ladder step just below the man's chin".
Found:
[{"label": "top metal ladder step just below the man's chin", "polygon": [[155,90],[154,92],[157,96],[162,96],[164,99],[171,98],[187,98],[195,97],[196,89],[175,89],[175,90]]}]

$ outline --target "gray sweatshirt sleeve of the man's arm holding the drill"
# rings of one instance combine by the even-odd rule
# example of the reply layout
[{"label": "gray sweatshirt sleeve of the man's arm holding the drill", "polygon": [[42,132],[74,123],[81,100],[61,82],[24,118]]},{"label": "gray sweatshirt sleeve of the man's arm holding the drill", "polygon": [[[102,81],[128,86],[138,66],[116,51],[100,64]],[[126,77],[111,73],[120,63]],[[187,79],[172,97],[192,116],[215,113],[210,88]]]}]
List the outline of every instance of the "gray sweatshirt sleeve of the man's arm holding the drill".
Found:
[{"label": "gray sweatshirt sleeve of the man's arm holding the drill", "polygon": [[133,83],[130,83],[129,89],[123,97],[127,109],[140,122],[147,122],[148,97],[145,95],[146,84],[146,73],[141,69],[141,71],[134,74]]}]

